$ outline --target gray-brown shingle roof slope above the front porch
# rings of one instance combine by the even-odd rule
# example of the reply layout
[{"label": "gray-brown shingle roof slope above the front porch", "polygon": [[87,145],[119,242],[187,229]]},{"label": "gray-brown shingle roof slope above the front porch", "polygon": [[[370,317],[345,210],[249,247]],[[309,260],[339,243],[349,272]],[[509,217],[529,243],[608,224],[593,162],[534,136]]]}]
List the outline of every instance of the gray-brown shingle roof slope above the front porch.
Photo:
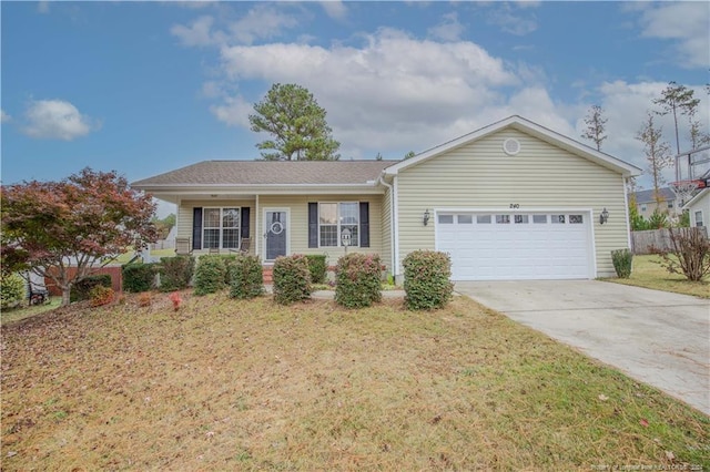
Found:
[{"label": "gray-brown shingle roof slope above the front porch", "polygon": [[142,181],[153,186],[365,185],[398,161],[203,161]]}]

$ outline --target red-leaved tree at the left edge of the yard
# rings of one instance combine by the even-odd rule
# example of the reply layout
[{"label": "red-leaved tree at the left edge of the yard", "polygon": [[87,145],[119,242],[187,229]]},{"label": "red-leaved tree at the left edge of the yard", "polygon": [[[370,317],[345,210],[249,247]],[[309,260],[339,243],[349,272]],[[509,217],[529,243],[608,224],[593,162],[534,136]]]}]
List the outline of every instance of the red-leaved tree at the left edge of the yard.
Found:
[{"label": "red-leaved tree at the left edge of the yard", "polygon": [[69,305],[72,285],[129,247],[155,240],[154,211],[151,196],[114,171],[87,167],[61,182],[2,186],[3,270],[48,277]]}]

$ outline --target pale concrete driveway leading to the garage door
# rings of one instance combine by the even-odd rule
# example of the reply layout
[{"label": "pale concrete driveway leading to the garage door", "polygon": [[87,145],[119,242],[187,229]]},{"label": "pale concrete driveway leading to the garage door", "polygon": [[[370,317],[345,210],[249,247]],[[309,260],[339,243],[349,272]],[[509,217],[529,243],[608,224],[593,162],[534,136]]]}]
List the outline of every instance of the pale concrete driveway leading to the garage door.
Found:
[{"label": "pale concrete driveway leading to the garage door", "polygon": [[597,280],[455,290],[710,415],[710,300]]}]

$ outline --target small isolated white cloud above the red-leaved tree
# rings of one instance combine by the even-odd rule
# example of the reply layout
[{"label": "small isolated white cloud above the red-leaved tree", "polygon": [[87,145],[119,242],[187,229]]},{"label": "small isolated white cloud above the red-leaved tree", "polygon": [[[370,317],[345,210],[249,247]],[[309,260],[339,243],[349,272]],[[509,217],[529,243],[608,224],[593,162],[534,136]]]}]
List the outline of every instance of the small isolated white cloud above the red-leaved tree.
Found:
[{"label": "small isolated white cloud above the red-leaved tree", "polygon": [[22,129],[24,134],[43,140],[71,141],[99,127],[89,116],[79,113],[74,105],[62,100],[32,101],[24,116],[28,123]]}]

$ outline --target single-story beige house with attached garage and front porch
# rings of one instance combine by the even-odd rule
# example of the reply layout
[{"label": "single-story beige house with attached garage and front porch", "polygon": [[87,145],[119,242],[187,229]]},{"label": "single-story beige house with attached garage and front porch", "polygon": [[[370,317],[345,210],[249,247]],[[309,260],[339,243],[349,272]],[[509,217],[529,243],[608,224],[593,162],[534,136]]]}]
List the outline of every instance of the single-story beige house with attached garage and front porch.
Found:
[{"label": "single-story beige house with attached garage and front porch", "polygon": [[625,178],[638,174],[511,116],[406,161],[205,161],[132,185],[178,204],[194,254],[243,237],[265,265],[374,253],[402,280],[407,254],[436,249],[454,280],[561,279],[613,275],[610,252],[630,246]]}]

